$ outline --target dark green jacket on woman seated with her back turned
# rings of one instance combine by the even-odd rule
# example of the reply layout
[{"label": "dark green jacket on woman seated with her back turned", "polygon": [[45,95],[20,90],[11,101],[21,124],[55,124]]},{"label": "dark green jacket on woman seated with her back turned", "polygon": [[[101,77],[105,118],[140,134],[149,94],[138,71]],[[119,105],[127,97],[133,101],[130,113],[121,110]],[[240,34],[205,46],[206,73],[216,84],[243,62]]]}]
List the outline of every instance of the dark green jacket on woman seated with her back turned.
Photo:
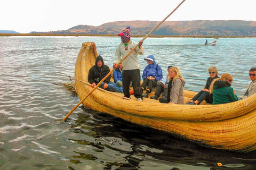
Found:
[{"label": "dark green jacket on woman seated with her back turned", "polygon": [[237,101],[238,97],[234,94],[233,88],[228,81],[218,80],[213,84],[213,105],[231,103]]}]

